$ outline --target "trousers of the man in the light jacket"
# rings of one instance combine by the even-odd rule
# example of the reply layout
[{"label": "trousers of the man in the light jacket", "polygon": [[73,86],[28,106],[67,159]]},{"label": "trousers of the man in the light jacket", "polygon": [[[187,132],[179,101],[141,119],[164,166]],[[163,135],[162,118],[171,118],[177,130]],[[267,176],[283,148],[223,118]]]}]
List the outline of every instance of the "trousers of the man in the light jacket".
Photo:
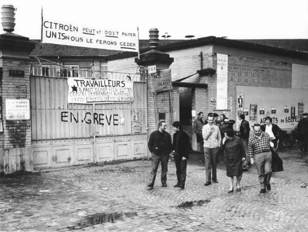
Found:
[{"label": "trousers of the man in the light jacket", "polygon": [[219,147],[207,148],[204,147],[204,163],[205,163],[205,179],[206,182],[211,182],[212,173],[213,180],[217,180],[216,168],[219,154]]}]

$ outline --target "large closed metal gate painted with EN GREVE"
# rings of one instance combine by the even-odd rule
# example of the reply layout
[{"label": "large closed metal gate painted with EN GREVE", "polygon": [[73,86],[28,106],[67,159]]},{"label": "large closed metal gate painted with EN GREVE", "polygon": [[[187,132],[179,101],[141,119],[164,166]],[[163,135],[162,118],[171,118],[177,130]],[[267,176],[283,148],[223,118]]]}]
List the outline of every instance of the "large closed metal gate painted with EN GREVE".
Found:
[{"label": "large closed metal gate painted with EN GREVE", "polygon": [[[133,102],[68,104],[65,73],[83,76],[81,71],[73,71],[49,70],[49,74],[57,76],[30,75],[34,169],[147,156],[145,77],[108,73],[108,79],[134,81]],[[106,73],[96,73],[95,79],[105,76]],[[102,117],[100,121],[98,117]]]}]

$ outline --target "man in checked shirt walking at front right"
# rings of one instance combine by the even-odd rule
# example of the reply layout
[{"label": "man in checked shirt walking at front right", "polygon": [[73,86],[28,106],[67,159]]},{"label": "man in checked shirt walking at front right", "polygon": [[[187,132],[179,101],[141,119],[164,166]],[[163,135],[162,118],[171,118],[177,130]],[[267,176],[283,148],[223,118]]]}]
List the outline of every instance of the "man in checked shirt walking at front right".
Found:
[{"label": "man in checked shirt walking at front right", "polygon": [[272,176],[272,151],[269,142],[271,137],[261,130],[260,124],[255,124],[254,134],[248,141],[248,157],[251,158],[251,164],[256,163],[256,168],[260,181],[260,194],[264,194],[267,190],[271,190],[269,181]]}]

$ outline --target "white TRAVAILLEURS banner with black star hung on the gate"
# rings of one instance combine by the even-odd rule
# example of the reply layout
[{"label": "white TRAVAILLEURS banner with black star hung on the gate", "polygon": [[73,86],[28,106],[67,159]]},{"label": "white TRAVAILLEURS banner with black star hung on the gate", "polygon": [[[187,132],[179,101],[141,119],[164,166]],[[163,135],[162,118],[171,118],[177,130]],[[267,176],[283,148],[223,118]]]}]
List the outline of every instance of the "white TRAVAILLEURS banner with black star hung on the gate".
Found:
[{"label": "white TRAVAILLEURS banner with black star hung on the gate", "polygon": [[68,78],[68,103],[132,102],[133,82]]}]

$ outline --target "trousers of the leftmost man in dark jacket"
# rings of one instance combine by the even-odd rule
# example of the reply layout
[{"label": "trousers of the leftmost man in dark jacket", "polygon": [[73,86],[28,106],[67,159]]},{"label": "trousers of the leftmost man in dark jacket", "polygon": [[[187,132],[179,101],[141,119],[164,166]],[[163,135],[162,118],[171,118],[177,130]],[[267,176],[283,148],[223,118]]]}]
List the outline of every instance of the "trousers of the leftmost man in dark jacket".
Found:
[{"label": "trousers of the leftmost man in dark jacket", "polygon": [[161,181],[162,181],[162,184],[166,183],[167,171],[168,171],[168,160],[169,160],[169,154],[165,154],[164,156],[158,156],[157,154],[152,153],[152,166],[151,166],[151,174],[150,174],[151,184],[155,183],[159,162],[161,162],[161,165],[162,165]]}]

